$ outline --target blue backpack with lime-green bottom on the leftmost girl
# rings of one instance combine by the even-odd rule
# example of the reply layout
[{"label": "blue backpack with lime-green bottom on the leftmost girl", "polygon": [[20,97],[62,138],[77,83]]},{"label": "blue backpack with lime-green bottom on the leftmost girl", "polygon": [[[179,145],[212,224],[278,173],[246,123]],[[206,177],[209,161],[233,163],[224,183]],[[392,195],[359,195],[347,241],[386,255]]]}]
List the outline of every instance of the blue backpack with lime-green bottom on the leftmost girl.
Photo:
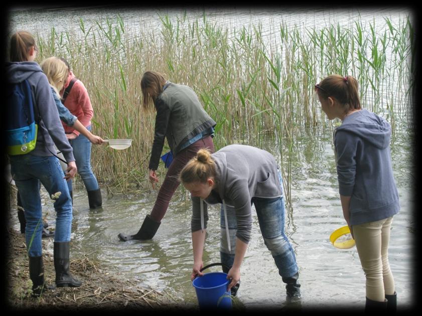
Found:
[{"label": "blue backpack with lime-green bottom on the leftmost girl", "polygon": [[32,90],[27,80],[8,84],[7,106],[7,153],[17,155],[34,150],[38,125],[35,122]]}]

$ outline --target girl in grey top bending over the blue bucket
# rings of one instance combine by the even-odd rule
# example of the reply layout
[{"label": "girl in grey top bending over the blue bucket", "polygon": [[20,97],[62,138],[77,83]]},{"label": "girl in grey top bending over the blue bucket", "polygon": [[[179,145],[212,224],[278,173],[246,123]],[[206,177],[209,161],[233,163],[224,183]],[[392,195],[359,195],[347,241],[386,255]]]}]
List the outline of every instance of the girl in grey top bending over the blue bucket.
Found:
[{"label": "girl in grey top bending over the blue bucket", "polygon": [[192,195],[191,278],[203,275],[202,253],[207,228],[207,204],[221,203],[221,262],[231,267],[228,288],[240,282],[240,265],[252,228],[252,203],[265,245],[286,283],[287,299],[301,297],[296,256],[284,231],[283,180],[274,157],[247,145],[228,145],[215,153],[201,149],[183,168],[180,181]]}]

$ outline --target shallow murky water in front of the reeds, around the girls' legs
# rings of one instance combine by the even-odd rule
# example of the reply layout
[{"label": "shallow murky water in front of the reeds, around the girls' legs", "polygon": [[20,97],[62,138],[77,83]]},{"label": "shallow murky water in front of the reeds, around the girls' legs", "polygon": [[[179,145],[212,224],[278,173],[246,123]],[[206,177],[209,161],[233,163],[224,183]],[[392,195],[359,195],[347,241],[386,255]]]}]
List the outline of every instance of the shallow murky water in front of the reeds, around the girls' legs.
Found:
[{"label": "shallow murky water in front of the reeds, around the girls' legs", "polygon": [[[333,247],[332,231],[345,225],[338,198],[334,154],[331,143],[313,139],[322,151],[308,152],[295,162],[292,172],[293,213],[286,216],[286,232],[295,249],[300,267],[302,306],[329,307],[364,304],[365,277],[356,248]],[[306,142],[304,142],[306,146]],[[395,144],[399,146],[400,144]],[[396,147],[393,147],[397,149]],[[298,152],[306,152],[300,148]],[[389,260],[399,293],[399,303],[411,303],[415,281],[412,277],[414,227],[413,196],[409,184],[409,152],[392,150],[401,210],[394,216]],[[151,212],[156,193],[107,196],[103,188],[103,208],[89,210],[82,185],[74,187],[72,257],[87,254],[109,270],[131,280],[133,286],[147,286],[170,293],[177,302],[196,306],[196,294],[190,281],[192,249],[190,202],[179,189],[172,200],[156,236],[150,241],[121,242],[119,232],[134,234]],[[219,208],[212,208],[204,264],[219,262]],[[14,212],[13,210],[12,212]],[[54,227],[54,210],[44,206]],[[13,213],[12,213],[13,214]],[[15,213],[16,214],[16,213]],[[16,216],[11,217],[16,229]],[[52,247],[51,247],[52,248]],[[217,271],[211,268],[209,271]],[[238,300],[249,307],[282,307],[285,290],[273,259],[260,235],[253,213],[252,238],[241,268]]]}]

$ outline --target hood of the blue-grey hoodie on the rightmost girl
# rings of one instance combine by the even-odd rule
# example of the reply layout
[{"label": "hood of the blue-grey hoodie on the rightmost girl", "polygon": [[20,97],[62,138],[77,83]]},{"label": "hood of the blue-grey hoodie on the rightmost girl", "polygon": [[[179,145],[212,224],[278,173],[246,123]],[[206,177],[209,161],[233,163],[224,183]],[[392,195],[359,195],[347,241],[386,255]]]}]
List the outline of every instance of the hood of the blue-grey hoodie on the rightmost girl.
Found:
[{"label": "hood of the blue-grey hoodie on the rightmost girl", "polygon": [[346,116],[336,131],[354,133],[380,149],[386,148],[391,139],[391,125],[384,118],[366,109]]}]

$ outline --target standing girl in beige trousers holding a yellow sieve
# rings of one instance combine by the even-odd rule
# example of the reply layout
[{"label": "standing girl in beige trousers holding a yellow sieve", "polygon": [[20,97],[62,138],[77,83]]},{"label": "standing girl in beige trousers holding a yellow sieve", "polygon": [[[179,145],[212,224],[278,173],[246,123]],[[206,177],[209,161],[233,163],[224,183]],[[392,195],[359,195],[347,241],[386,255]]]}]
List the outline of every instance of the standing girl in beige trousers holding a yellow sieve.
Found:
[{"label": "standing girl in beige trousers holding a yellow sieve", "polygon": [[391,126],[362,109],[357,80],[332,75],[315,85],[334,131],[343,216],[356,242],[366,276],[366,310],[396,310],[394,279],[388,263],[393,215],[400,209],[391,167]]}]

